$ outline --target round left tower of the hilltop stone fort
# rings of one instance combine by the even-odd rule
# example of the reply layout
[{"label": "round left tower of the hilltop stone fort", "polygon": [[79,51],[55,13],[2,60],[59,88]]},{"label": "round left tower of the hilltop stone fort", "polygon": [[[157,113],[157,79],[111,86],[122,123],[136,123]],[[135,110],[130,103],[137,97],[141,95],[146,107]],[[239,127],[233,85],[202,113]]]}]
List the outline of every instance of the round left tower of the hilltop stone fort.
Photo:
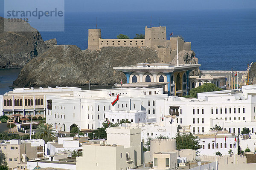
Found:
[{"label": "round left tower of the hilltop stone fort", "polygon": [[101,29],[88,29],[88,49],[99,49]]}]

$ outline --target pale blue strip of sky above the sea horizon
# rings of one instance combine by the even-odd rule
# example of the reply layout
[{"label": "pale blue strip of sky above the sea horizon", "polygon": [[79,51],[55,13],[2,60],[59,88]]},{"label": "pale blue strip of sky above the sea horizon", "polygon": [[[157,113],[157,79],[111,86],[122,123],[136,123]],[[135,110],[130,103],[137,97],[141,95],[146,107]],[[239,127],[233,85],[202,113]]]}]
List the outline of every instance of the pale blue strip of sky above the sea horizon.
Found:
[{"label": "pale blue strip of sky above the sea horizon", "polygon": [[[24,1],[26,2],[26,0]],[[218,9],[256,9],[256,0],[65,0],[65,12],[195,11]],[[3,11],[4,0],[0,0],[0,14],[3,14]]]}]

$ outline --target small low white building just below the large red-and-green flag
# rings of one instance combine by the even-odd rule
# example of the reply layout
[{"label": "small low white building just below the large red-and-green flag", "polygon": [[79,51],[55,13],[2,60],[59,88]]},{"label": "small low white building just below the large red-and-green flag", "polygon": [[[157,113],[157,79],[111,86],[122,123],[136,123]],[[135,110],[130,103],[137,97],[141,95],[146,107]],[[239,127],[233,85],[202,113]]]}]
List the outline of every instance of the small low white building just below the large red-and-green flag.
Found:
[{"label": "small low white building just below the large red-and-green flag", "polygon": [[130,122],[139,123],[147,121],[147,112],[145,110],[114,110],[105,112],[105,121],[110,121],[111,123],[119,123],[121,120],[128,120]]}]

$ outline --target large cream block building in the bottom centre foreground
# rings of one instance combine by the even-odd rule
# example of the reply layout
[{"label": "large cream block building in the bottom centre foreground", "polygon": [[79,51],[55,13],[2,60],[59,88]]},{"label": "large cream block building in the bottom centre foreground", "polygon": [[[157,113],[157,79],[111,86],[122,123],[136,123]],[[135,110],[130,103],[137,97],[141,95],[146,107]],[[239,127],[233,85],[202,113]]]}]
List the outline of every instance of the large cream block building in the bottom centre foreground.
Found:
[{"label": "large cream block building in the bottom centre foreground", "polygon": [[83,144],[76,169],[127,170],[142,164],[140,128],[107,128],[107,144]]}]

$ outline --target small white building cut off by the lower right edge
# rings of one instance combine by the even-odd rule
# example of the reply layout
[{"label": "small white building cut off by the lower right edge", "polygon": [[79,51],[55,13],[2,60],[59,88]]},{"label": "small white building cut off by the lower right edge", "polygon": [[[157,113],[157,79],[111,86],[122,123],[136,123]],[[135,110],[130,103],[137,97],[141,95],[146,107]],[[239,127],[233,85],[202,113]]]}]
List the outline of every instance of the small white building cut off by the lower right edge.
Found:
[{"label": "small white building cut off by the lower right edge", "polygon": [[239,145],[241,150],[245,150],[247,148],[250,149],[251,152],[256,151],[256,135],[239,135]]}]

